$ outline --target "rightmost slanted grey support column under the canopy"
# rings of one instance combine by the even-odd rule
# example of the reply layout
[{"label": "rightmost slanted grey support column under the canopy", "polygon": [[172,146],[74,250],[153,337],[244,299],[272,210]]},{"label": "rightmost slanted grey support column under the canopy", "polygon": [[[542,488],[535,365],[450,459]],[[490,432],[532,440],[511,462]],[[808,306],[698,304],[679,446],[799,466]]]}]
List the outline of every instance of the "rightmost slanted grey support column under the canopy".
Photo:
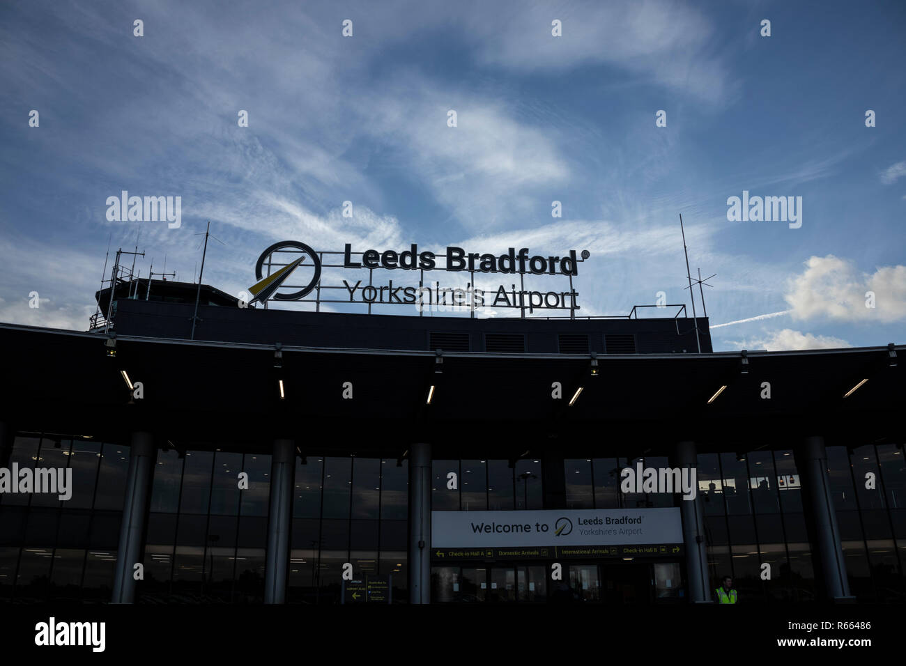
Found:
[{"label": "rightmost slanted grey support column under the canopy", "polygon": [[805,481],[804,499],[811,514],[810,522],[815,540],[813,552],[818,555],[820,561],[824,594],[831,602],[853,601],[849,591],[849,580],[846,578],[846,563],[840,544],[840,530],[837,528],[834,497],[831,495],[830,479],[827,476],[824,438],[805,438],[796,464]]}]

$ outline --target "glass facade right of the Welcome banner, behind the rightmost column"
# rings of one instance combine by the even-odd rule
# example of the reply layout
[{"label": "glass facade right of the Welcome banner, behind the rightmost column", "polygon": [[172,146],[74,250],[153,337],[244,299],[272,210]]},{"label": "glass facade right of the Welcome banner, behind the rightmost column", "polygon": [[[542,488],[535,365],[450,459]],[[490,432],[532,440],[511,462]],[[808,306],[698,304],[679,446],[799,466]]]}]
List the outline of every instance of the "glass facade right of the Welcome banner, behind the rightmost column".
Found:
[{"label": "glass facade right of the Welcome banner, behind the rightmost column", "polygon": [[[827,472],[850,594],[906,601],[906,468],[901,445],[827,447]],[[711,588],[732,575],[740,601],[817,594],[803,487],[792,449],[699,454]],[[769,578],[762,577],[765,564]]]}]

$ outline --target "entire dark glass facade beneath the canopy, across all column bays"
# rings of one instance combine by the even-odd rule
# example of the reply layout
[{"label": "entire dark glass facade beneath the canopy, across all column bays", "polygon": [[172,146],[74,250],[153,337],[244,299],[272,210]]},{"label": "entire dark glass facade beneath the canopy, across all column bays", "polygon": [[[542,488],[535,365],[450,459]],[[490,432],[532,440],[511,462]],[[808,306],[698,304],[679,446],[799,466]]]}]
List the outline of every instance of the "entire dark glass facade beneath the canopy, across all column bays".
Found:
[{"label": "entire dark glass facade beneath the canopy, across all column bays", "polygon": [[[858,602],[906,602],[902,445],[882,441],[826,451],[851,594]],[[130,448],[20,432],[5,456],[0,467],[70,470],[73,488],[68,501],[0,494],[0,601],[108,602]],[[620,491],[620,470],[640,462],[671,464],[666,457],[631,455],[565,459],[566,507],[680,506],[676,495]],[[271,456],[170,449],[158,450],[154,463],[136,601],[263,603]],[[312,455],[294,464],[287,601],[340,603],[342,565],[349,562],[356,577],[389,574],[393,602],[407,603],[408,460]],[[544,509],[542,468],[541,460],[529,458],[433,460],[432,509]],[[247,480],[240,482],[240,472]],[[456,487],[450,487],[451,473]],[[807,488],[792,448],[699,447],[698,483],[711,589],[729,574],[744,603],[820,596]],[[435,601],[640,603],[648,594],[642,579],[649,581],[652,601],[680,600],[684,565],[651,566],[570,563],[559,587],[545,578],[542,565],[530,562],[435,566],[432,575]]]}]

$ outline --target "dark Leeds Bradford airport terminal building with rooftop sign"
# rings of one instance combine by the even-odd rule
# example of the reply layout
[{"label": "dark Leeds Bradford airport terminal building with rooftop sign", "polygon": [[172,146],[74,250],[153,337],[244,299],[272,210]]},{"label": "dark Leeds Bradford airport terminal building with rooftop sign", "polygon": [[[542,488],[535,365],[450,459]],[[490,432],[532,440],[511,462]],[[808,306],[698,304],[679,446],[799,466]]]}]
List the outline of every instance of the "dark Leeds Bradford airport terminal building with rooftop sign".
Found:
[{"label": "dark Leeds Bradford airport terminal building with rooftop sign", "polygon": [[[583,318],[574,253],[511,250],[525,316],[378,314],[373,277],[421,285],[426,253],[294,247],[317,257],[294,294],[305,262],[272,246],[250,304],[115,266],[89,332],[0,323],[0,601],[682,604],[723,575],[740,603],[906,599],[906,346],[712,352],[684,308]],[[324,311],[344,268],[369,312]],[[535,303],[533,272],[570,285]]]}]

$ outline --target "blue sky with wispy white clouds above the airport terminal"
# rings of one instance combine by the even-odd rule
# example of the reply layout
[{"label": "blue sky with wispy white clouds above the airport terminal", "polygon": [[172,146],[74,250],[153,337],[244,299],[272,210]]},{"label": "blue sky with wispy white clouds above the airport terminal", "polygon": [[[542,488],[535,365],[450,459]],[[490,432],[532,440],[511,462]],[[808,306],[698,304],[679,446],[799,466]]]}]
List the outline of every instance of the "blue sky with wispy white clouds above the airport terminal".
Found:
[{"label": "blue sky with wispy white clouds above the airport terminal", "polygon": [[[590,250],[582,314],[627,314],[689,302],[681,213],[716,350],[902,343],[904,34],[902,2],[5,2],[0,321],[84,330],[138,227],[191,281],[208,219],[233,294],[280,240],[529,246]],[[108,221],[123,189],[181,227]],[[802,227],[729,221],[744,190]]]}]

